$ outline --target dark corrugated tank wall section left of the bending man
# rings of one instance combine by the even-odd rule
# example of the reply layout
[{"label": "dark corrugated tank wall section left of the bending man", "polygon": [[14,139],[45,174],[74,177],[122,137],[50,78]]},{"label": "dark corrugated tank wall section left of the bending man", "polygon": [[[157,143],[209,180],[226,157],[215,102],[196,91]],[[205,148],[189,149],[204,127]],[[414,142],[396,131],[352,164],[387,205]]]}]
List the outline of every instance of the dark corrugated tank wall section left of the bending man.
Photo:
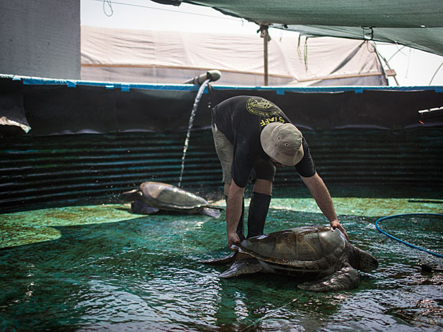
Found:
[{"label": "dark corrugated tank wall section left of the bending man", "polygon": [[[183,187],[219,183],[219,162],[208,133],[192,133]],[[125,133],[3,139],[0,205],[109,196],[148,180],[177,185],[185,137]]]}]

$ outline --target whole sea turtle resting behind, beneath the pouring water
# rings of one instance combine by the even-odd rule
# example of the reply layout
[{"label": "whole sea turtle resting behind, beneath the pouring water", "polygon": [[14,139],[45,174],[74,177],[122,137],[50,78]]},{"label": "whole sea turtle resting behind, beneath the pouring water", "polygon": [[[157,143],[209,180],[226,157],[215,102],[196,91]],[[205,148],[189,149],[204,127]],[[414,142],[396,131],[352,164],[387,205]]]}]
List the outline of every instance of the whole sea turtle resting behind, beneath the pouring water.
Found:
[{"label": "whole sea turtle resting behind, beneath the pouring water", "polygon": [[123,201],[132,202],[135,214],[153,214],[160,210],[185,214],[206,214],[220,216],[220,208],[214,207],[205,199],[174,185],[160,182],[143,182],[139,189],[124,192]]}]

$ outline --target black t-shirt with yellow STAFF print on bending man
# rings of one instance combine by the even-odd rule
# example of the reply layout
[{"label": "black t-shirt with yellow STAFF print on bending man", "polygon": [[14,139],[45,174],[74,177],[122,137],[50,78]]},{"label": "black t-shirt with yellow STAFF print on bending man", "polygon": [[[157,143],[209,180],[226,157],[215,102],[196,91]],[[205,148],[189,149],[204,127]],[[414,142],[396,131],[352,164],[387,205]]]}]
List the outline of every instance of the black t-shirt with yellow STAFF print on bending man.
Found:
[{"label": "black t-shirt with yellow STAFF print on bending man", "polygon": [[[261,97],[239,95],[217,104],[213,109],[217,129],[233,143],[233,180],[246,187],[248,177],[257,160],[269,160],[260,142],[260,133],[271,122],[291,123],[283,111]],[[295,166],[298,174],[310,177],[316,173],[314,160],[305,138],[302,141],[304,156]]]}]

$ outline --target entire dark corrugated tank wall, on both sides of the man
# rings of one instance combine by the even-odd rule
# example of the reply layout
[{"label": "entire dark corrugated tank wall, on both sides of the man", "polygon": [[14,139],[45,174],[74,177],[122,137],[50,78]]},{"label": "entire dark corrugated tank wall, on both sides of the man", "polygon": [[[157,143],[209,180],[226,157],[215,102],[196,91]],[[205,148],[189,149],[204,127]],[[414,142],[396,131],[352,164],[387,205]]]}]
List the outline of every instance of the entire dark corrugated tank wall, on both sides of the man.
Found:
[{"label": "entire dark corrugated tank wall, on both sides of the man", "polygon": [[[326,183],[443,184],[443,130],[304,131]],[[177,185],[186,133],[19,136],[1,138],[0,212],[24,205],[104,199],[143,181]],[[193,131],[183,187],[221,188],[210,130]],[[299,182],[293,167],[276,185]]]}]

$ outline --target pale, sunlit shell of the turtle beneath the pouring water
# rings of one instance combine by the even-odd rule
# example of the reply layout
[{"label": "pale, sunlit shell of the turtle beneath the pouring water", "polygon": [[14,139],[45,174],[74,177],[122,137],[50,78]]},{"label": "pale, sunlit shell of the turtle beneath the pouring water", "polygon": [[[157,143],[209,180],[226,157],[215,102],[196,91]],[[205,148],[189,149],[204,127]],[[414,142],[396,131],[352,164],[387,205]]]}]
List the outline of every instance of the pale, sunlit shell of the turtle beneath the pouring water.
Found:
[{"label": "pale, sunlit shell of the turtle beneath the pouring water", "polygon": [[162,210],[194,210],[208,205],[208,201],[174,185],[144,182],[140,185],[145,203]]}]

